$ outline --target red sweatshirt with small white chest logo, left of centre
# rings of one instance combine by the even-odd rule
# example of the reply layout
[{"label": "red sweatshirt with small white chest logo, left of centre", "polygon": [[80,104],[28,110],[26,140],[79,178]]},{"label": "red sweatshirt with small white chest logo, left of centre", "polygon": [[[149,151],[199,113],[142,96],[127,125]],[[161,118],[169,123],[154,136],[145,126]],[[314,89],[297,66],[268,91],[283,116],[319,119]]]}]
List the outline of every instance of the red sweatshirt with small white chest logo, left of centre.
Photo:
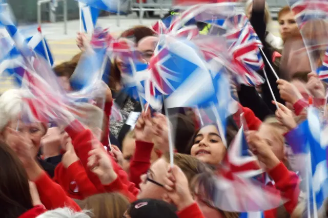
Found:
[{"label": "red sweatshirt with small white chest logo, left of centre", "polygon": [[67,169],[59,163],[55,169],[53,180],[65,190],[72,199],[84,200],[99,193],[91,183],[80,161],[71,164]]}]

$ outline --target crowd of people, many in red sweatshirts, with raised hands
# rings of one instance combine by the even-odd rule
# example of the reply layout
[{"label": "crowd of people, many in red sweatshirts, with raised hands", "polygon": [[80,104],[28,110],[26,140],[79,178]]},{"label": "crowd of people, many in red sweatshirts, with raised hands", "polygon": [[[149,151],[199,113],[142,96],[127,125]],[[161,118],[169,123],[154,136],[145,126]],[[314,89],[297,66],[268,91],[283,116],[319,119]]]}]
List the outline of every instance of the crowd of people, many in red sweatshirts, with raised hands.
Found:
[{"label": "crowd of people, many in red sweatshirts, with raised hands", "polygon": [[[249,150],[263,170],[256,180],[272,187],[283,199],[280,206],[263,211],[264,217],[307,215],[302,183],[305,163],[293,153],[290,139],[295,136],[297,125],[306,119],[309,105],[325,108],[325,84],[312,72],[308,55],[295,51],[304,48],[302,35],[318,37],[320,27],[312,24],[301,32],[293,11],[286,6],[278,13],[278,37],[267,28],[271,16],[265,1],[249,1],[245,14],[263,44],[264,55],[269,57],[269,62],[264,61],[268,77],[258,87],[230,81],[238,110],[227,117],[226,135],[220,134],[210,117],[202,125],[191,108],[170,111],[172,124],[165,111],[153,112],[150,107],[142,110],[143,105],[122,89],[121,71],[125,64],[119,58],[108,69],[105,107],[82,104],[81,110],[87,113],[84,118],[64,119],[56,125],[26,122],[21,116],[24,90],[4,92],[0,96],[2,216],[240,217],[240,211],[225,211],[217,206],[215,179],[241,126],[240,113],[248,130],[245,136]],[[197,25],[205,34],[210,28]],[[145,62],[150,61],[158,42],[157,33],[146,26],[135,26],[119,37],[133,38]],[[53,68],[68,92],[73,90],[70,76],[88,43],[87,36],[79,33],[77,46],[81,53]],[[320,60],[318,57],[315,61]],[[263,72],[259,74],[264,78]],[[110,122],[114,103],[122,118]],[[104,124],[101,127],[100,120]],[[175,131],[173,166],[170,125]],[[324,203],[318,217],[327,216],[328,204]]]}]

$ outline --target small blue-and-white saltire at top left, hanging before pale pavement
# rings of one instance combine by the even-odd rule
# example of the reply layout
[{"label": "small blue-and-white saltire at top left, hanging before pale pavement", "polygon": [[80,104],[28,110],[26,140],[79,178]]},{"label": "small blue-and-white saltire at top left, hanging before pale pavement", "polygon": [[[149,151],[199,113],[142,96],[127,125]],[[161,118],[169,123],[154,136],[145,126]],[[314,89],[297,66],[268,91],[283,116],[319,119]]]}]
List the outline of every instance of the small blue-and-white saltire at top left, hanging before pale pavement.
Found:
[{"label": "small blue-and-white saltire at top left, hanging before pale pavement", "polygon": [[78,3],[79,9],[81,10],[81,19],[85,32],[92,33],[99,16],[99,9],[87,6],[83,3]]}]

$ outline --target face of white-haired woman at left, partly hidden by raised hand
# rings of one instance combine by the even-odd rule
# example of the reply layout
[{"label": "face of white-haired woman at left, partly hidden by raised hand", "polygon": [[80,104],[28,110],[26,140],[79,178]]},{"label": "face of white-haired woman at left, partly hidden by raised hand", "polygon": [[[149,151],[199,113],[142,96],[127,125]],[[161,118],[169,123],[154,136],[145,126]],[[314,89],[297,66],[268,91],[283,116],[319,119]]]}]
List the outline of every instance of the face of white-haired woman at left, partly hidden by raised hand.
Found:
[{"label": "face of white-haired woman at left, partly hidden by raised hand", "polygon": [[[24,123],[23,121],[13,121],[10,122],[7,126],[7,128],[11,129],[17,129],[17,131],[22,132],[24,137],[26,137],[28,140],[31,140],[32,144],[34,145],[35,148],[35,156],[37,154],[37,151],[39,150],[40,147],[40,142],[41,138],[45,135],[46,130],[45,127],[41,123]],[[5,128],[4,131],[4,140],[8,145],[10,146],[10,142],[7,141],[7,138],[9,138],[10,131]]]}]

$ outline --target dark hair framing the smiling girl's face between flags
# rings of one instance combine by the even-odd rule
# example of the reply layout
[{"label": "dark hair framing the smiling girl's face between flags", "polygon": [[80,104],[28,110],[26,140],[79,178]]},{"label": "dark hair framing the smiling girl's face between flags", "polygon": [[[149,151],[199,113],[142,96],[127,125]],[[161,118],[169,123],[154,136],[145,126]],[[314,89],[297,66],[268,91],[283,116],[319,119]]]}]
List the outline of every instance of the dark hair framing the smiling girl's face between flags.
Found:
[{"label": "dark hair framing the smiling girl's face between flags", "polygon": [[[204,126],[200,127],[199,129],[197,129],[195,131],[195,134],[192,136],[191,141],[189,142],[189,146],[187,147],[187,150],[186,150],[186,153],[187,154],[190,154],[191,147],[194,145],[194,141],[195,141],[195,138],[196,138],[198,132],[203,127],[212,126],[212,125],[213,126],[217,126],[216,124],[211,123],[211,124],[204,125]],[[234,137],[237,134],[237,132],[238,132],[238,127],[237,127],[235,121],[233,120],[232,116],[229,116],[227,118],[227,133],[226,133],[226,139],[227,139],[227,145],[228,145],[228,147],[229,147],[230,143],[232,142],[232,140],[234,139]]]}]

